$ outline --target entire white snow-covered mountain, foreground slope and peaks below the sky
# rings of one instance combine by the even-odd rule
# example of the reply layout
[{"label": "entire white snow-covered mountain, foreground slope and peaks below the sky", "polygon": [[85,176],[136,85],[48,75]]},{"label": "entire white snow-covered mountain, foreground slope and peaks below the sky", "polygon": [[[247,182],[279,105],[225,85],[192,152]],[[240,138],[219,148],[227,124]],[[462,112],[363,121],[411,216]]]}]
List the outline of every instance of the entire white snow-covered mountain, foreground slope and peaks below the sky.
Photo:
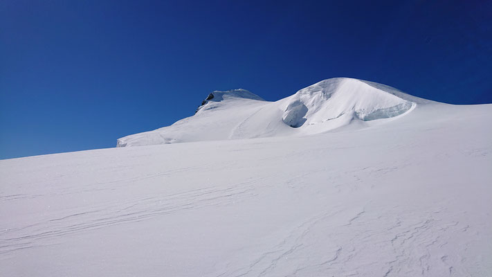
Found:
[{"label": "entire white snow-covered mountain, foreground slope and peaks below the sky", "polygon": [[212,94],[127,147],[0,161],[0,276],[492,276],[492,105]]}]

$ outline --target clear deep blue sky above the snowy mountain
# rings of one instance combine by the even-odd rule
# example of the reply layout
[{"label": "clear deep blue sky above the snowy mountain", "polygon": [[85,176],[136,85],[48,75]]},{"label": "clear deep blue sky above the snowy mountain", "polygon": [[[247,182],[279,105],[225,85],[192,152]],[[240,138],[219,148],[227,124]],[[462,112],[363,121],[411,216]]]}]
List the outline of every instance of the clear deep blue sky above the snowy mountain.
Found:
[{"label": "clear deep blue sky above the snowy mountain", "polygon": [[[318,3],[317,3],[318,2]],[[0,1],[0,159],[110,148],[213,90],[492,102],[492,1]]]}]

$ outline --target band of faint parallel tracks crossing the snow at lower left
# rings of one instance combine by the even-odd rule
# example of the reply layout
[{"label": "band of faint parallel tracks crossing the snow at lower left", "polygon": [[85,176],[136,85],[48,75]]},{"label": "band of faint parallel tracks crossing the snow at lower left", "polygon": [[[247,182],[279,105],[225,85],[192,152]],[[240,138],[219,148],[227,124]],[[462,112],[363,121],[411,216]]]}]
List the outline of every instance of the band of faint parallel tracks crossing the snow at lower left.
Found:
[{"label": "band of faint parallel tracks crossing the snow at lower left", "polygon": [[[154,177],[161,176],[155,175]],[[152,177],[138,178],[138,180]],[[135,179],[132,179],[135,180]],[[132,199],[131,202],[112,206],[100,206],[91,211],[65,215],[17,229],[0,231],[0,254],[35,247],[43,238],[66,235],[86,229],[98,229],[113,224],[138,222],[149,217],[179,213],[205,206],[220,206],[239,202],[244,197],[253,197],[253,184],[259,180],[246,181],[229,188],[199,188],[185,193]],[[125,180],[129,181],[129,180]],[[74,224],[74,222],[77,222]],[[20,235],[19,235],[20,234]]]}]

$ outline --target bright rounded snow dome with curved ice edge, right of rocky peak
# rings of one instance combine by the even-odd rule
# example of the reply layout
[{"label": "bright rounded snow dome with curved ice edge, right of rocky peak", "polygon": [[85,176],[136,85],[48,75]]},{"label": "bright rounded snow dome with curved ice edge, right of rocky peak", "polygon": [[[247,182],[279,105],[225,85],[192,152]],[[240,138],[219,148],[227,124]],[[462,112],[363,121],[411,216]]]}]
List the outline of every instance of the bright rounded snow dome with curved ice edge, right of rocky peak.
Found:
[{"label": "bright rounded snow dome with curved ice edge, right of rocky peak", "polygon": [[286,112],[293,103],[306,107],[302,115],[305,132],[317,134],[348,125],[354,119],[370,121],[400,116],[416,105],[396,96],[394,91],[397,90],[382,90],[360,80],[332,78],[295,93],[287,101],[290,104]]}]

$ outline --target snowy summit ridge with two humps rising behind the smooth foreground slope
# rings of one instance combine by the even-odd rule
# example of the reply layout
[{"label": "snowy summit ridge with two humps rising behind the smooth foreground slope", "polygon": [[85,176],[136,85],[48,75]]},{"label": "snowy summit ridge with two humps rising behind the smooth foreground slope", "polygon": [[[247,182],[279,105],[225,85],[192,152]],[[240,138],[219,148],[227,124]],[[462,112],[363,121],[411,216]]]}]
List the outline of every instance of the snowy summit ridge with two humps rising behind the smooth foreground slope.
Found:
[{"label": "snowy summit ridge with two humps rising behind the smooth foreground slope", "polygon": [[201,104],[194,116],[125,136],[117,146],[320,134],[347,125],[371,127],[417,105],[439,105],[384,84],[351,78],[323,80],[276,102],[235,89],[214,91]]}]

